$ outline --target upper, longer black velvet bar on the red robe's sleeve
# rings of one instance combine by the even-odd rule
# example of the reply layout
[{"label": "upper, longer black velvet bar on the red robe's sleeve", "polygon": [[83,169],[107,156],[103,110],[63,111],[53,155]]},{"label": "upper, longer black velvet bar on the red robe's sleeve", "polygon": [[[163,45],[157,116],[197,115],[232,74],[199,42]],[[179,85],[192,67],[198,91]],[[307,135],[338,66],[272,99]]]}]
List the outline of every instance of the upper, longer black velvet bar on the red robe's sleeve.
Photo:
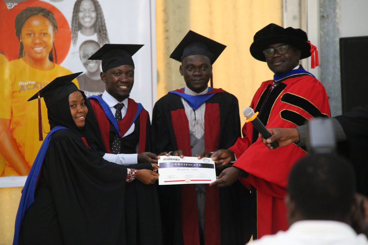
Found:
[{"label": "upper, longer black velvet bar on the red robe's sleeve", "polygon": [[319,109],[314,104],[312,104],[310,101],[308,101],[307,99],[303,97],[297,96],[295,94],[285,93],[281,97],[281,101],[303,109],[304,111],[306,111],[309,115],[313,116],[314,118],[319,117],[319,116],[328,117],[327,115],[322,114],[321,111],[319,111]]}]

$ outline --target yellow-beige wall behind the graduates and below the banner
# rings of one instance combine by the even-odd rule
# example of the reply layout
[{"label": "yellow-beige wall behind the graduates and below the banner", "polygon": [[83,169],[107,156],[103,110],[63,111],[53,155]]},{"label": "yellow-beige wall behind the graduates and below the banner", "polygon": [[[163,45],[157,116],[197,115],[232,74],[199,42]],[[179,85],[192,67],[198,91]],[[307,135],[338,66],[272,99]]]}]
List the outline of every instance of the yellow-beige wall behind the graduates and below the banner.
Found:
[{"label": "yellow-beige wall behind the graduates and below the banner", "polygon": [[[158,98],[185,86],[180,63],[169,55],[193,30],[227,46],[213,65],[214,87],[234,94],[241,111],[248,107],[260,83],[272,79],[266,63],[249,53],[255,32],[269,23],[281,25],[282,0],[156,0]],[[0,188],[0,245],[13,241],[21,189]]]}]

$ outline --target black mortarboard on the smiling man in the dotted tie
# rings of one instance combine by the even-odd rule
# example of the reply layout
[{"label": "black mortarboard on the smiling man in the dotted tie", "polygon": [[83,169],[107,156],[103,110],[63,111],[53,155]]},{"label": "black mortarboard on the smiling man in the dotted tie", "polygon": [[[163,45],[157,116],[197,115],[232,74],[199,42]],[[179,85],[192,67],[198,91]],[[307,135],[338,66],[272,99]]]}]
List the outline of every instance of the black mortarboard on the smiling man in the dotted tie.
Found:
[{"label": "black mortarboard on the smiling man in the dotted tie", "polygon": [[132,55],[143,46],[144,44],[105,44],[88,60],[101,60],[103,72],[121,65],[134,66]]}]

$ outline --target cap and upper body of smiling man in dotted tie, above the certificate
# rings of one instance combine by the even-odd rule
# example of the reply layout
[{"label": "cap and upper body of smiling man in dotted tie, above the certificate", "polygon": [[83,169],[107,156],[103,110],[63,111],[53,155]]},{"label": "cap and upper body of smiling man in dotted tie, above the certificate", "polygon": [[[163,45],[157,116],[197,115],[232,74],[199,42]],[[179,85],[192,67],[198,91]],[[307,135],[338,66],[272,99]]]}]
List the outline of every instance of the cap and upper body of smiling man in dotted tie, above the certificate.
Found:
[{"label": "cap and upper body of smiling man in dotted tie, above the certificate", "polygon": [[[100,76],[106,89],[99,96],[88,98],[99,124],[105,157],[111,160],[118,158],[120,164],[124,165],[157,163],[157,155],[147,152],[150,148],[147,137],[151,126],[148,112],[140,103],[129,98],[134,85],[132,55],[142,46],[105,44],[88,58],[102,60]],[[116,118],[118,112],[119,119]]]}]

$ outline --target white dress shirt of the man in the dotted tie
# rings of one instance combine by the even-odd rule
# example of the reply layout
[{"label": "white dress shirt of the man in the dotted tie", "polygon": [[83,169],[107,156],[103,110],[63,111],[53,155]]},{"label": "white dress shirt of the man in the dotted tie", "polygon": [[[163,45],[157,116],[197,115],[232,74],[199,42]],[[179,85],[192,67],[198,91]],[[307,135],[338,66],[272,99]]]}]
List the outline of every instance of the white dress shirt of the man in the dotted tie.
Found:
[{"label": "white dress shirt of the man in the dotted tie", "polygon": [[[126,98],[122,102],[119,102],[119,101],[116,100],[116,98],[112,97],[105,90],[105,92],[103,92],[103,94],[102,94],[102,99],[106,102],[107,105],[109,105],[110,110],[111,110],[111,112],[113,113],[114,116],[115,116],[115,112],[116,112],[116,109],[114,108],[114,105],[116,105],[117,103],[123,103],[124,104],[123,108],[121,108],[121,118],[124,118],[124,116],[127,114],[128,98]],[[128,131],[124,134],[123,137],[133,133],[134,128],[135,128],[135,126],[134,126],[134,123],[133,123],[132,126],[128,129]],[[109,162],[114,162],[114,163],[121,164],[121,165],[135,164],[135,163],[138,162],[137,158],[138,158],[138,154],[109,154],[109,153],[105,153],[105,155],[103,155],[103,159],[105,159]]]}]

